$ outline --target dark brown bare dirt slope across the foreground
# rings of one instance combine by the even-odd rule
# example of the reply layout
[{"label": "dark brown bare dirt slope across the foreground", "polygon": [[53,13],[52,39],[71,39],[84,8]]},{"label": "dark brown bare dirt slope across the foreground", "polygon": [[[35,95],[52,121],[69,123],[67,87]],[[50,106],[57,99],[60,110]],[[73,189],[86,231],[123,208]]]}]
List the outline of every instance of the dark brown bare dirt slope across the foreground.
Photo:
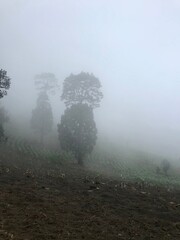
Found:
[{"label": "dark brown bare dirt slope across the foreground", "polygon": [[180,239],[180,190],[98,176],[75,164],[0,168],[0,239]]}]

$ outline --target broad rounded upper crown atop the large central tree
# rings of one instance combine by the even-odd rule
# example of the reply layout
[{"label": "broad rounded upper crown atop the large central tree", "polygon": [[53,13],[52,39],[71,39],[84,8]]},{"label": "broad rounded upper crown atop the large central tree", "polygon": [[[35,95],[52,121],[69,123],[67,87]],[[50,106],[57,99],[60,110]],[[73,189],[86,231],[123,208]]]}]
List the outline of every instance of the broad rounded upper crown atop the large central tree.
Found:
[{"label": "broad rounded upper crown atop the large central tree", "polygon": [[100,81],[93,74],[71,74],[64,80],[61,100],[65,102],[66,107],[87,103],[89,107],[96,108],[103,97],[100,88]]}]

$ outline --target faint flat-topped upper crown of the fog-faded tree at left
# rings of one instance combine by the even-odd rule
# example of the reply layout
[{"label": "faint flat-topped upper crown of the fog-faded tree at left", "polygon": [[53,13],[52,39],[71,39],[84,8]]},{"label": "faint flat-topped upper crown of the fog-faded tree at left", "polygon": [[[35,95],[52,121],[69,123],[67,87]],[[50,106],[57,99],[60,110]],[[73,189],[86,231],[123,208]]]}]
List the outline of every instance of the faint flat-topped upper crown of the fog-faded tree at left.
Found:
[{"label": "faint flat-topped upper crown of the fog-faded tree at left", "polygon": [[42,73],[35,76],[35,85],[42,92],[54,93],[58,88],[58,80],[53,73]]}]

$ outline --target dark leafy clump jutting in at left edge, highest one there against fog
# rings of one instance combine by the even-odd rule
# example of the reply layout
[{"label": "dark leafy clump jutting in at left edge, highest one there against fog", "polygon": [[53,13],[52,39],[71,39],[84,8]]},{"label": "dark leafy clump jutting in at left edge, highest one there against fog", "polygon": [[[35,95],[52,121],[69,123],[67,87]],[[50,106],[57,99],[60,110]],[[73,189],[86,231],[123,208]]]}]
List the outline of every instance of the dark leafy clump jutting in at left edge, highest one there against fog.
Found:
[{"label": "dark leafy clump jutting in at left edge, highest one there against fog", "polygon": [[7,76],[7,72],[5,70],[0,70],[0,98],[3,98],[7,95],[7,91],[10,88],[11,80]]}]

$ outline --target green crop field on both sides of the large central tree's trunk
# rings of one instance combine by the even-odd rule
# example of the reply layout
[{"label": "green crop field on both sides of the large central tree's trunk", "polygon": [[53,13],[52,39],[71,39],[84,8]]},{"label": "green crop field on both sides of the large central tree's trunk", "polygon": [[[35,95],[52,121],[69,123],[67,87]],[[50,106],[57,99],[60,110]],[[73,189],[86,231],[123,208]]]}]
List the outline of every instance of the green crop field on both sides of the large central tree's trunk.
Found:
[{"label": "green crop field on both sides of the large central tree's trunk", "polygon": [[[22,139],[9,139],[6,144],[0,145],[0,152],[1,162],[5,161],[8,165],[19,164],[33,169],[44,165],[49,168],[60,168],[62,164],[75,162],[70,153],[38,147]],[[87,157],[85,166],[101,174],[124,180],[180,187],[180,173],[176,171],[175,165],[172,165],[168,176],[156,173],[156,167],[161,161],[161,157],[148,153],[97,146]]]}]

